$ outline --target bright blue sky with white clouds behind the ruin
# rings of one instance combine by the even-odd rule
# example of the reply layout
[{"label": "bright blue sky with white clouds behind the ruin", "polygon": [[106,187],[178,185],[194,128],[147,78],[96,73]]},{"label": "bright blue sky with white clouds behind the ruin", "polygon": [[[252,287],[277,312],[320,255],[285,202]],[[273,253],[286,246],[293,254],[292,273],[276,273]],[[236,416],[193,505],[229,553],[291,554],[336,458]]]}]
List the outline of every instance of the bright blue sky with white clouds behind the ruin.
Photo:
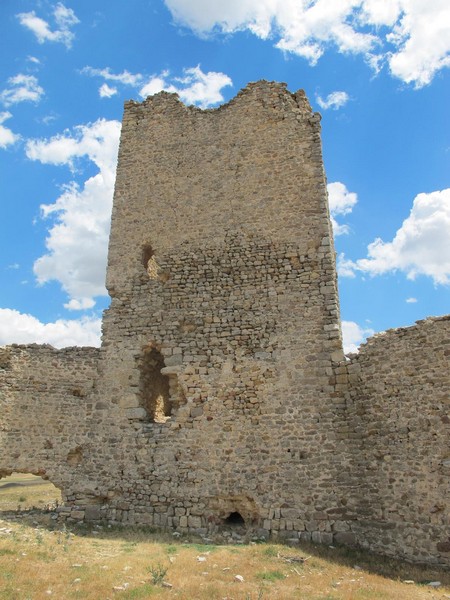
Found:
[{"label": "bright blue sky with white clouds behind the ruin", "polygon": [[322,114],[347,350],[450,312],[448,0],[2,0],[0,344],[98,345],[124,100]]}]

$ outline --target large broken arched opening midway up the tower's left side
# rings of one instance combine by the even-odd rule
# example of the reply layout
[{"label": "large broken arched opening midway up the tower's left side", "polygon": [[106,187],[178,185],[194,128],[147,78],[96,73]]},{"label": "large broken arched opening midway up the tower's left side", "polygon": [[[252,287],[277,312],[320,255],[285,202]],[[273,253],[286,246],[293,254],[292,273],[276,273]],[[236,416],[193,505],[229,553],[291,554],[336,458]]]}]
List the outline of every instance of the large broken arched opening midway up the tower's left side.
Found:
[{"label": "large broken arched opening midway up the tower's left side", "polygon": [[164,357],[161,352],[156,348],[145,348],[141,362],[139,392],[148,420],[155,423],[165,423],[172,415],[170,382],[169,377],[161,373],[163,368]]}]

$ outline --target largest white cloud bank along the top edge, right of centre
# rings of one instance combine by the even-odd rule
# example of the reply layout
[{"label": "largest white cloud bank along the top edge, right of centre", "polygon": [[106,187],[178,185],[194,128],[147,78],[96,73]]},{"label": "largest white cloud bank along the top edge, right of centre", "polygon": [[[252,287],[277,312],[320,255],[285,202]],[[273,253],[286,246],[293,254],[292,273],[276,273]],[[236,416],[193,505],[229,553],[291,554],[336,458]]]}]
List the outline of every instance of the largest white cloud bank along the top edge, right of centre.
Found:
[{"label": "largest white cloud bank along the top edge, right of centre", "polygon": [[165,0],[200,36],[249,30],[315,65],[331,47],[415,87],[450,66],[448,0]]}]

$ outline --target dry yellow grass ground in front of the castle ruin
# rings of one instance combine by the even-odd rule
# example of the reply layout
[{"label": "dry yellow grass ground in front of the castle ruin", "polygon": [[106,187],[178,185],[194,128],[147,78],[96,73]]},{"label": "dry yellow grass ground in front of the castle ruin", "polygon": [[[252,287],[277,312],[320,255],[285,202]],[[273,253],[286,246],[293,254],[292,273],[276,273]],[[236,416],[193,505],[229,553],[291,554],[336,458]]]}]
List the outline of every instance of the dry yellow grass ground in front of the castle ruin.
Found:
[{"label": "dry yellow grass ground in front of the castle ruin", "polygon": [[[35,505],[38,487],[23,494]],[[450,598],[449,574],[356,551],[205,546],[142,529],[69,531],[51,513],[3,512],[4,496],[14,503],[11,489],[0,489],[1,600]],[[425,583],[436,580],[438,589]]]}]

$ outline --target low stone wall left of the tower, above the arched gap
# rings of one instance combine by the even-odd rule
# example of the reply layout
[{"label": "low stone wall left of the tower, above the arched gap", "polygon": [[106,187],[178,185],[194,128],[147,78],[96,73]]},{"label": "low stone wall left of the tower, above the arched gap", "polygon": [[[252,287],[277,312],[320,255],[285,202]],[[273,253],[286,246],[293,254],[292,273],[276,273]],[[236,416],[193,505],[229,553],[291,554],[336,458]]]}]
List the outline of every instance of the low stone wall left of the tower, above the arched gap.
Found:
[{"label": "low stone wall left of the tower, above the arched gap", "polygon": [[99,350],[51,346],[0,348],[0,476],[43,476],[67,498],[92,452],[88,431]]}]

